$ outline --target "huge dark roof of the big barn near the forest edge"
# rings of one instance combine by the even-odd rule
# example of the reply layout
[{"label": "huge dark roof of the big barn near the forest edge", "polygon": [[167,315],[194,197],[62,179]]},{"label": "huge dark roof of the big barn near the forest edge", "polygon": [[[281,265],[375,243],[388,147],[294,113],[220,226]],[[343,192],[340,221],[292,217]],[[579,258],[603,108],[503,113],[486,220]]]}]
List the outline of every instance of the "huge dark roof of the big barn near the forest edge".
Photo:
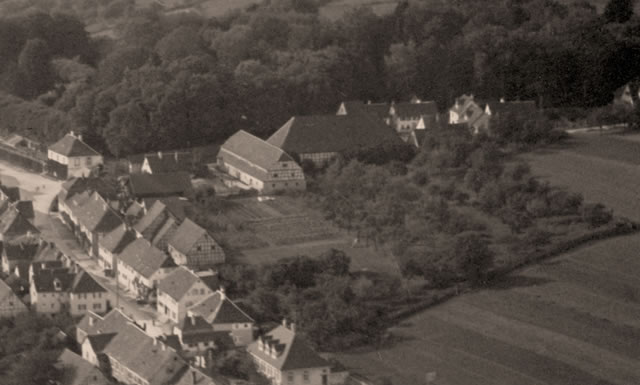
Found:
[{"label": "huge dark roof of the big barn near the forest edge", "polygon": [[294,116],[267,141],[297,154],[342,153],[402,143],[382,121],[363,114]]}]

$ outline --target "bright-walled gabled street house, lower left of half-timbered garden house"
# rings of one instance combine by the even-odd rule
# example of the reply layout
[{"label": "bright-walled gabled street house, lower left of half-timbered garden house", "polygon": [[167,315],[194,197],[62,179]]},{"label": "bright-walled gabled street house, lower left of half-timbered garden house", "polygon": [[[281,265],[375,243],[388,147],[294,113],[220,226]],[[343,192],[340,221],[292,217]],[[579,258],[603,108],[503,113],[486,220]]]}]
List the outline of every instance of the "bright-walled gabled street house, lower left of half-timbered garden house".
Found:
[{"label": "bright-walled gabled street house, lower left of half-timbered garden house", "polygon": [[128,244],[117,259],[118,283],[141,298],[152,294],[158,282],[176,267],[169,254],[144,238]]}]

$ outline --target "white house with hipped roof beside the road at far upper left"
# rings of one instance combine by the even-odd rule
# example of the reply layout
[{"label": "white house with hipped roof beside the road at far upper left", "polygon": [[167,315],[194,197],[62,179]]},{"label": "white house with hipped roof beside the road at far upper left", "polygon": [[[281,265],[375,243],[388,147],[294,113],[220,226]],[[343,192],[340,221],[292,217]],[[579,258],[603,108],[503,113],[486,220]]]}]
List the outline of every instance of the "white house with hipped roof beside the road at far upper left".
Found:
[{"label": "white house with hipped roof beside the road at far upper left", "polygon": [[49,146],[47,156],[50,172],[60,179],[87,177],[91,170],[104,163],[102,155],[73,131]]}]

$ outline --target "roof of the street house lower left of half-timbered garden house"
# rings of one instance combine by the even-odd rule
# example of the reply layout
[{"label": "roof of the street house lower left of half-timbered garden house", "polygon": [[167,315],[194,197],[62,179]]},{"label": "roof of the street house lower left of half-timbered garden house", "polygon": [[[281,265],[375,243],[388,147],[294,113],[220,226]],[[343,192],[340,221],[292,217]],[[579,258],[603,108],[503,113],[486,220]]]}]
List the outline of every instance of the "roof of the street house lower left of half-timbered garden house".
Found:
[{"label": "roof of the street house lower left of half-timbered garden house", "polygon": [[150,278],[162,267],[175,266],[170,256],[144,238],[138,238],[127,245],[119,259],[145,278]]}]

